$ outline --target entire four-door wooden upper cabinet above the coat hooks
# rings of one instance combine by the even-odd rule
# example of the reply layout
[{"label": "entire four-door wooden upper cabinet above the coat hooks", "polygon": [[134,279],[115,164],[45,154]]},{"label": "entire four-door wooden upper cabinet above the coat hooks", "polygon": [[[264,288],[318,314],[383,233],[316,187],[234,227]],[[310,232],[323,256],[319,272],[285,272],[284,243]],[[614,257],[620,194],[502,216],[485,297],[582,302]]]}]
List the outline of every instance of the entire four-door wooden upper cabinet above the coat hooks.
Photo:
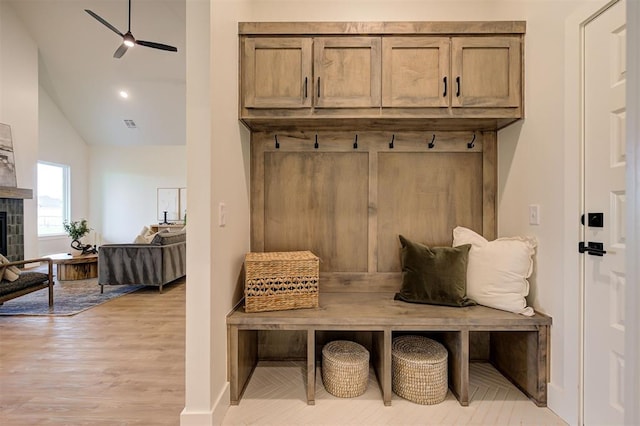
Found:
[{"label": "entire four-door wooden upper cabinet above the coat hooks", "polygon": [[495,130],[523,117],[524,22],[240,23],[239,117]]}]

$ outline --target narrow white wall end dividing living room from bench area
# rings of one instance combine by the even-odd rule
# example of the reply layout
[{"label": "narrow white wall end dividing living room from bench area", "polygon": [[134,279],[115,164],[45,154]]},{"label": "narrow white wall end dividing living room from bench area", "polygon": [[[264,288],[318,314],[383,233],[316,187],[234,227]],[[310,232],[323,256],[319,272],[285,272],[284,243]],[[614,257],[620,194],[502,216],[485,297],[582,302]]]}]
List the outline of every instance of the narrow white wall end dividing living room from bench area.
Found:
[{"label": "narrow white wall end dividing living room from bench area", "polygon": [[[224,406],[218,397],[226,389],[224,381],[214,378],[219,370],[213,355],[212,214],[211,214],[211,6],[208,0],[187,2],[187,269],[185,330],[185,407],[180,424],[213,424],[214,406]],[[192,250],[192,247],[196,247]],[[217,300],[222,304],[221,299]],[[224,305],[223,305],[224,306]],[[224,308],[223,308],[224,309]],[[215,361],[214,361],[215,358]],[[214,362],[216,363],[214,365]],[[215,392],[215,393],[214,393]]]}]

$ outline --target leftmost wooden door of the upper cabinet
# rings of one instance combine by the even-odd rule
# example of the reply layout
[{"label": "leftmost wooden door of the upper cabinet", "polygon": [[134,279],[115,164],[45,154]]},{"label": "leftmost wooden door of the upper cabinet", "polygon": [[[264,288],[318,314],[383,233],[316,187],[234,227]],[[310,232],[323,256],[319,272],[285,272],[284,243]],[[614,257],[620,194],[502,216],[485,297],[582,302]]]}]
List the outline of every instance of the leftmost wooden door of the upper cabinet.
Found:
[{"label": "leftmost wooden door of the upper cabinet", "polygon": [[311,107],[311,38],[247,38],[245,108]]}]

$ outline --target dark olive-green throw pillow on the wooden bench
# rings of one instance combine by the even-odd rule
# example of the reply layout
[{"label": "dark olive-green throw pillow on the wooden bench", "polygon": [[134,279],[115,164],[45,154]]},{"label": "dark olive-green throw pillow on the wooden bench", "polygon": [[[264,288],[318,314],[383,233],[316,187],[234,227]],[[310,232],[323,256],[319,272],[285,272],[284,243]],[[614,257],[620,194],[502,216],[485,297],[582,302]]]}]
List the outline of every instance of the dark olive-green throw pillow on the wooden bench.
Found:
[{"label": "dark olive-green throw pillow on the wooden bench", "polygon": [[402,287],[395,299],[432,305],[469,306],[467,260],[471,244],[427,247],[402,235]]}]

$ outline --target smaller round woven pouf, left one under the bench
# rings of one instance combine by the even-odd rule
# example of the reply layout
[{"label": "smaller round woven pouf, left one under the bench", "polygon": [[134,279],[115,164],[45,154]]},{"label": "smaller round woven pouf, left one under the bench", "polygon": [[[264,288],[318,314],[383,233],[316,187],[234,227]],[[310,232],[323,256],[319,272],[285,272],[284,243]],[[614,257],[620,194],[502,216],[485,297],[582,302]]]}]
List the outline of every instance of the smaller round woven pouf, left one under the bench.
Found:
[{"label": "smaller round woven pouf, left one under the bench", "polygon": [[348,340],[334,340],[322,348],[322,382],[331,395],[362,395],[369,383],[369,351]]}]

